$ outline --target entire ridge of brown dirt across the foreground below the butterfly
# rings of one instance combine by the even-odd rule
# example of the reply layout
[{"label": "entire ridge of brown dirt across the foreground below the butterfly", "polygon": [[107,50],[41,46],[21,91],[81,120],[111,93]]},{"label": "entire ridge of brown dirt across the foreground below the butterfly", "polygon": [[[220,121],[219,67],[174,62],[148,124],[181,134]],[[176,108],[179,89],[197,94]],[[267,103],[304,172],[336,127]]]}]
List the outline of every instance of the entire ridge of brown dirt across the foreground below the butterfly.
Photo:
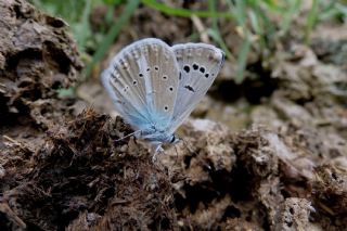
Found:
[{"label": "entire ridge of brown dirt across the foreground below the butterfly", "polygon": [[49,130],[41,146],[9,147],[5,156],[16,159],[1,163],[0,211],[10,227],[345,228],[346,172],[316,166],[316,153],[303,156],[312,137],[298,141],[265,128],[231,133],[191,120],[185,141],[155,164],[132,139],[115,144],[128,132],[121,120],[87,110]]}]

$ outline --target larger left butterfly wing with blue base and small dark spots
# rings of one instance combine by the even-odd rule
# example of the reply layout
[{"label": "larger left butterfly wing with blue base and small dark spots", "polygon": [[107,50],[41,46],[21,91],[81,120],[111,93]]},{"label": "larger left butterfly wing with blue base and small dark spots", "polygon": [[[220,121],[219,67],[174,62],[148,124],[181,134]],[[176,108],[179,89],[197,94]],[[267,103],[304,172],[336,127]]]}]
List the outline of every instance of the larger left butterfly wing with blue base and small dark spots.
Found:
[{"label": "larger left butterfly wing with blue base and small dark spots", "polygon": [[137,130],[171,121],[179,67],[159,39],[142,39],[123,49],[102,74],[118,113]]}]

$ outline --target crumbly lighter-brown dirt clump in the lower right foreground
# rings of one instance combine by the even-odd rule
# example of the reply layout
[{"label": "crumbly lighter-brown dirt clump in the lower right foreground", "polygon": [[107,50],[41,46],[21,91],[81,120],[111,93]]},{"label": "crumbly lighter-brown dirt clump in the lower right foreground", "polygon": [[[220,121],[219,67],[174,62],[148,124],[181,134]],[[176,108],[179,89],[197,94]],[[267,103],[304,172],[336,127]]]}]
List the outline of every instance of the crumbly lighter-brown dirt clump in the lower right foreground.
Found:
[{"label": "crumbly lighter-brown dirt clump in the lower right foreground", "polygon": [[325,137],[295,127],[231,133],[197,119],[183,133],[187,144],[171,149],[163,163],[183,177],[174,187],[184,229],[346,228],[346,167],[325,164],[342,161],[346,149],[329,157]]}]

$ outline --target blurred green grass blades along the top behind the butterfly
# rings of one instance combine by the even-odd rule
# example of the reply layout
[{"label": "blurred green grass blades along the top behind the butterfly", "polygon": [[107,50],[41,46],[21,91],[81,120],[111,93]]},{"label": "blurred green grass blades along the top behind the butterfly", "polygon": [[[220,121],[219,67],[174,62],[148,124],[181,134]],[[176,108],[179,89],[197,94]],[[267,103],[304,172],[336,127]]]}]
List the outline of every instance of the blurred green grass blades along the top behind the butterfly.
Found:
[{"label": "blurred green grass blades along the top behind the butterfly", "polygon": [[[239,68],[236,82],[242,82],[244,79],[247,55],[255,41],[260,47],[260,54],[266,59],[266,54],[269,53],[271,47],[287,36],[293,22],[298,17],[306,22],[303,28],[303,40],[308,44],[310,43],[311,31],[318,23],[327,20],[347,21],[347,2],[345,0],[311,0],[309,8],[304,10],[303,5],[307,4],[308,1],[226,0],[223,2],[227,3],[227,8],[223,8],[226,9],[223,11],[218,8],[219,1],[214,0],[204,1],[208,8],[201,11],[174,8],[166,4],[165,1],[156,0],[31,0],[31,2],[43,11],[64,18],[70,25],[73,36],[87,64],[83,72],[85,78],[91,74],[94,65],[102,60],[121,28],[127,25],[127,22],[140,5],[167,15],[181,17],[192,17],[194,15],[202,18],[211,18],[211,24],[205,33],[226,51],[228,57],[232,57],[232,53],[220,34],[218,22],[221,18],[233,21],[237,25],[239,36],[243,40],[240,52],[235,57]],[[90,17],[93,10],[102,4],[107,5],[107,12],[104,14],[103,25],[95,31],[91,28]],[[123,10],[114,16],[115,9],[120,7]],[[273,18],[281,23],[274,23]]]}]

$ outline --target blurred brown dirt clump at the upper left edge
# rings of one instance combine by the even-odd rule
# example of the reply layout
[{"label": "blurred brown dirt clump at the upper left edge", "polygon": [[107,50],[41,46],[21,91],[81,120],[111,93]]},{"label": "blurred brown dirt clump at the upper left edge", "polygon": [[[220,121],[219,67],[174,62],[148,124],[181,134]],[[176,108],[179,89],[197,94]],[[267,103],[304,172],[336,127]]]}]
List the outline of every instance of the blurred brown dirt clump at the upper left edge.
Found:
[{"label": "blurred brown dirt clump at the upper left edge", "polygon": [[0,14],[0,123],[47,129],[61,117],[54,107],[66,104],[56,90],[72,86],[82,67],[77,47],[63,20],[27,1],[1,1]]}]

